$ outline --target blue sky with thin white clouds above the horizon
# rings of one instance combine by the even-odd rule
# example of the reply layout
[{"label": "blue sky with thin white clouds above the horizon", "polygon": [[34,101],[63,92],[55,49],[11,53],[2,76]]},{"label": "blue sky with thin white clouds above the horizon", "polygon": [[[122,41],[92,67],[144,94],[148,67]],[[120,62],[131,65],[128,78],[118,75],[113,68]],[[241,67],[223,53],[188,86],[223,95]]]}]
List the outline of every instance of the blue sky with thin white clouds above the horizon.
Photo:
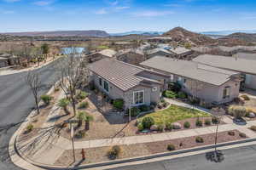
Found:
[{"label": "blue sky with thin white clouds above the horizon", "polygon": [[256,30],[255,0],[0,0],[0,32]]}]

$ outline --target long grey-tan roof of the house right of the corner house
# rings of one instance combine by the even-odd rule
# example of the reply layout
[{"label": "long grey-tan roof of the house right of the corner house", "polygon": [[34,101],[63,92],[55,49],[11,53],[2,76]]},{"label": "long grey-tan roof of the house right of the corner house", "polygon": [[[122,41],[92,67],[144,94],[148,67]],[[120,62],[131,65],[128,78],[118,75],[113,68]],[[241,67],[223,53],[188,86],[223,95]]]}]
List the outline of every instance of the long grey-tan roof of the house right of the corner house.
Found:
[{"label": "long grey-tan roof of the house right of the corner house", "polygon": [[162,56],[155,56],[154,58],[142,62],[140,65],[217,86],[229,81],[231,76],[238,74],[235,71],[226,71],[208,65],[197,64],[193,61],[178,60]]}]

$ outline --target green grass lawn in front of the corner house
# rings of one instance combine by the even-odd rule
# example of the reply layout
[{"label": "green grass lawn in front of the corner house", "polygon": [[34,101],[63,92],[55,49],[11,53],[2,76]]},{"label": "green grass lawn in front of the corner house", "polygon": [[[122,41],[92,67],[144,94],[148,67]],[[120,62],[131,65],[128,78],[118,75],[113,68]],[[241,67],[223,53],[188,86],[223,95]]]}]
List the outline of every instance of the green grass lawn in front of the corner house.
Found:
[{"label": "green grass lawn in front of the corner house", "polygon": [[[150,113],[146,116],[151,116],[154,118],[155,124],[163,124],[166,122],[177,122],[181,121],[183,119],[193,118],[193,117],[207,117],[210,116],[209,114],[197,111],[194,109],[189,109],[177,105],[171,105],[167,109],[163,111],[156,111],[154,113]],[[146,117],[143,116],[143,117]],[[142,120],[143,117],[141,117],[139,120]]]}]

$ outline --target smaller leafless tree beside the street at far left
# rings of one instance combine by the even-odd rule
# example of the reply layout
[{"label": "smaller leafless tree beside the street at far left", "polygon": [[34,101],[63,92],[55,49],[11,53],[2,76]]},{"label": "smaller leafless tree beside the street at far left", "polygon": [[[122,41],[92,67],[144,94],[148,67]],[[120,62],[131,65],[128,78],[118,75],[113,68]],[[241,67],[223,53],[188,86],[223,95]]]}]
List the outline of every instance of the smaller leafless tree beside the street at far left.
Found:
[{"label": "smaller leafless tree beside the street at far left", "polygon": [[26,75],[26,84],[32,90],[33,97],[35,99],[37,111],[39,114],[39,101],[38,101],[38,94],[42,87],[42,82],[39,78],[38,71],[29,71]]}]

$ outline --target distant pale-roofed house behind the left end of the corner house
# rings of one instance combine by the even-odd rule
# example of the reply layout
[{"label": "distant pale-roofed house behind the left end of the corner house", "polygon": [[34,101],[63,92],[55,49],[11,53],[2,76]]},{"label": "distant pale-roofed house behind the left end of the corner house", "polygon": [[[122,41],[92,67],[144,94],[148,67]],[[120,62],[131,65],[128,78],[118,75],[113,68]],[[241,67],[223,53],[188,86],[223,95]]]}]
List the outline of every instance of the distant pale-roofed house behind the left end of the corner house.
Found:
[{"label": "distant pale-roofed house behind the left end of the corner house", "polygon": [[113,49],[103,49],[102,51],[86,55],[85,57],[88,59],[89,63],[92,63],[104,58],[114,58],[115,54],[117,54],[117,52]]}]

